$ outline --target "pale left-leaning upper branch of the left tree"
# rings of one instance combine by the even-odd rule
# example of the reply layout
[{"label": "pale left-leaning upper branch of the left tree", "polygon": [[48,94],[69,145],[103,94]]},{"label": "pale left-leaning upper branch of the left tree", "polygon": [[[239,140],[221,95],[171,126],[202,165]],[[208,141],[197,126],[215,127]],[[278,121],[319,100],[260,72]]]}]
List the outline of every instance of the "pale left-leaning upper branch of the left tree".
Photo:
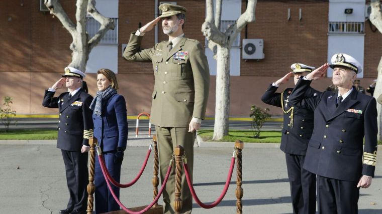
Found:
[{"label": "pale left-leaning upper branch of the left tree", "polygon": [[60,20],[64,28],[72,35],[75,33],[75,25],[73,22],[69,19],[68,15],[65,13],[65,11],[62,9],[61,4],[58,2],[58,0],[45,0],[44,1],[45,6],[49,9],[50,14],[57,17],[57,19]]}]

